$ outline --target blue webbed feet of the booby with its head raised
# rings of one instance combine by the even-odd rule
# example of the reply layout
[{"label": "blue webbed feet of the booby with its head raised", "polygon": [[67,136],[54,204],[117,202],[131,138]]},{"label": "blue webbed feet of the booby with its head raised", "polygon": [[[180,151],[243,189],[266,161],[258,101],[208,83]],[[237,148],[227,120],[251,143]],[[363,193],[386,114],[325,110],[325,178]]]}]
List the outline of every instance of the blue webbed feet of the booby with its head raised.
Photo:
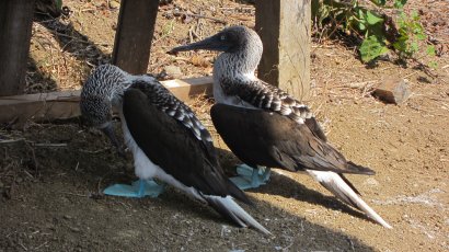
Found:
[{"label": "blue webbed feet of the booby with its head raised", "polygon": [[251,168],[246,164],[237,167],[238,176],[230,177],[230,180],[241,190],[257,188],[266,184],[269,180],[269,168]]}]

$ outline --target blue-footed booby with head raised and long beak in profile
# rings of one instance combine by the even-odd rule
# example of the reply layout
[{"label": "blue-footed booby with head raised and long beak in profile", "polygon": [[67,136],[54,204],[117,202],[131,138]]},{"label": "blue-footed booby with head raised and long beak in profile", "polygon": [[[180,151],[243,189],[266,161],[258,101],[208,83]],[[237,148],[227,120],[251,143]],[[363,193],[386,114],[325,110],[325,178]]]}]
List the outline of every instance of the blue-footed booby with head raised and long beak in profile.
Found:
[{"label": "blue-footed booby with head raised and long beak in profile", "polygon": [[[244,26],[227,27],[170,53],[193,49],[222,51],[214,64],[216,104],[211,108],[211,118],[217,131],[239,159],[254,168],[265,165],[306,171],[341,201],[391,228],[342,174],[371,175],[375,172],[346,161],[329,145],[307,105],[255,77],[263,45],[254,31]],[[257,177],[254,174],[257,173],[253,171],[252,177]]]}]

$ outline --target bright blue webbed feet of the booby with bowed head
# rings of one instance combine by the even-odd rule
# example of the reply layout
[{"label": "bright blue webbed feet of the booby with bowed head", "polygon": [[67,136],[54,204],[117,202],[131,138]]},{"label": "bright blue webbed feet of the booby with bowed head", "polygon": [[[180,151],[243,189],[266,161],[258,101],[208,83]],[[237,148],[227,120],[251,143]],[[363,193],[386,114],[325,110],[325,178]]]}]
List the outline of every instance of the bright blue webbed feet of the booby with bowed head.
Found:
[{"label": "bright blue webbed feet of the booby with bowed head", "polygon": [[120,197],[158,197],[164,191],[164,185],[157,184],[153,180],[138,180],[131,185],[114,184],[103,191],[106,195]]}]

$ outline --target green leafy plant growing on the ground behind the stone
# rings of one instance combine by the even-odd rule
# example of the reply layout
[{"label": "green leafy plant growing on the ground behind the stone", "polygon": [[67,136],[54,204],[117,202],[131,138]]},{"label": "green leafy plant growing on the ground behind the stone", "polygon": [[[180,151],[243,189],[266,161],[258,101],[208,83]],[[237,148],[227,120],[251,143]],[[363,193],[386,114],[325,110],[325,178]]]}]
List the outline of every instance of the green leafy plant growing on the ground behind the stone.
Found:
[{"label": "green leafy plant growing on the ground behind the stone", "polygon": [[[402,8],[407,0],[369,0],[375,7],[360,5],[360,0],[313,0],[312,16],[319,28],[332,27],[332,32],[341,30],[361,39],[359,53],[364,62],[395,51],[400,58],[411,58],[422,48],[427,39],[419,23],[419,15],[406,15]],[[387,9],[396,9],[400,13],[393,21],[384,14]],[[435,55],[435,48],[425,48],[428,55]]]}]

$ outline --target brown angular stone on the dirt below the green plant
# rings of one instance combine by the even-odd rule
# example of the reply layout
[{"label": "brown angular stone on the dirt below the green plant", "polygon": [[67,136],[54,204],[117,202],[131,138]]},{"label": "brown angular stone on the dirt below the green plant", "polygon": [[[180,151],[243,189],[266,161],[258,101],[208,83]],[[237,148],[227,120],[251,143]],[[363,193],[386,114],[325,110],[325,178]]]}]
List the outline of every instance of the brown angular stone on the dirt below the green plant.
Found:
[{"label": "brown angular stone on the dirt below the green plant", "polygon": [[412,94],[407,83],[408,81],[405,79],[385,79],[372,94],[383,102],[401,104]]}]

